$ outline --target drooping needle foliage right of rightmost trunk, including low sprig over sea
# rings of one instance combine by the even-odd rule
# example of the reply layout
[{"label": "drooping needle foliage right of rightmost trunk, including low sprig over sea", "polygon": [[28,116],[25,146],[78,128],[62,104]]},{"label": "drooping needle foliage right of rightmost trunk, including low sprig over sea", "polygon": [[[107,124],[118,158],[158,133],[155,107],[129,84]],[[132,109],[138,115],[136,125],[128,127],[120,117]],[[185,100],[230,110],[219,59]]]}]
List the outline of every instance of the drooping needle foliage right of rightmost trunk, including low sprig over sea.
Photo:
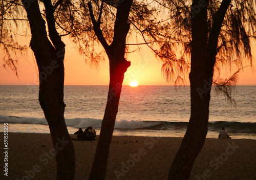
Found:
[{"label": "drooping needle foliage right of rightmost trunk, including low sprig over sea", "polygon": [[[216,1],[209,5],[214,14]],[[220,4],[220,3],[219,3]],[[255,40],[256,32],[256,4],[253,0],[231,1],[223,20],[218,39],[217,56],[215,63],[215,92],[226,96],[231,106],[236,107],[232,98],[233,90],[239,79],[239,72],[249,64],[252,67],[251,42]],[[229,78],[218,77],[221,69],[238,69]]]}]

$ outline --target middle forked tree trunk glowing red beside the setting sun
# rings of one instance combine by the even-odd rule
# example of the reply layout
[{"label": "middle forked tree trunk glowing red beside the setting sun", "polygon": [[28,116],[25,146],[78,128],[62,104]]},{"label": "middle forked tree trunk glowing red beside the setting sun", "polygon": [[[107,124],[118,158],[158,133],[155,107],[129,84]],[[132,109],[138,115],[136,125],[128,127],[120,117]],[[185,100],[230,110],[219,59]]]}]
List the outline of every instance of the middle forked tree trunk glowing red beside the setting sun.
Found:
[{"label": "middle forked tree trunk glowing red beside the setting sun", "polygon": [[[105,39],[102,40],[102,33],[100,33],[101,31],[99,27],[96,27],[96,24],[94,23],[94,31],[109,57],[110,84],[108,101],[106,103],[94,162],[89,176],[90,180],[105,179],[106,175],[106,166],[108,164],[110,144],[118,112],[124,73],[131,65],[131,62],[124,58],[126,35],[130,29],[128,17],[131,5],[132,0],[125,0],[117,7],[114,37],[110,46],[106,45]],[[91,13],[92,21],[93,18]]]}]

